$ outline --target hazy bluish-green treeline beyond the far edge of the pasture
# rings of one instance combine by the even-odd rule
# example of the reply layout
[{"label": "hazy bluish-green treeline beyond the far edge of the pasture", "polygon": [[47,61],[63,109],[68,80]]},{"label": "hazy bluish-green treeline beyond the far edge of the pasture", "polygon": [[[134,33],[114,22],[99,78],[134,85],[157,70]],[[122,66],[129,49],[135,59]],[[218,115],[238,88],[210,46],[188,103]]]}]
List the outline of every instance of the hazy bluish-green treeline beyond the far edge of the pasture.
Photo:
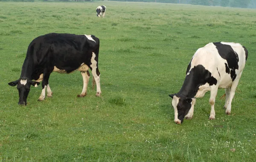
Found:
[{"label": "hazy bluish-green treeline beyond the far edge of the pasture", "polygon": [[17,2],[34,1],[123,1],[123,2],[158,2],[158,3],[183,3],[204,6],[223,6],[238,8],[256,8],[256,0],[0,0]]}]

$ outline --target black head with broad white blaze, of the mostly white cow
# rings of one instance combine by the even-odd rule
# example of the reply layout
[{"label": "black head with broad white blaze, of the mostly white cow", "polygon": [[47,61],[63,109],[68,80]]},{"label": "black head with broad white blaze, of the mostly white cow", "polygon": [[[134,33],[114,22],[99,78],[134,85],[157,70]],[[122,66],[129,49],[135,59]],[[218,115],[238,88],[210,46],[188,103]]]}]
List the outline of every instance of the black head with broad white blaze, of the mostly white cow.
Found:
[{"label": "black head with broad white blaze, of the mostly white cow", "polygon": [[174,122],[180,124],[192,106],[192,98],[177,94],[169,96],[172,98],[172,106],[174,108]]}]

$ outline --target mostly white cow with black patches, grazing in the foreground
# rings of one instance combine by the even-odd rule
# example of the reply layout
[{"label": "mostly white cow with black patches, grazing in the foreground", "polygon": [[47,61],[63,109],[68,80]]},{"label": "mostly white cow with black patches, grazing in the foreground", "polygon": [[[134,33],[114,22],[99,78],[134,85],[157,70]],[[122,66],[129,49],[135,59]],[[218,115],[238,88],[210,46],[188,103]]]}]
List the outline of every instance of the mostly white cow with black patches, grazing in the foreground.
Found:
[{"label": "mostly white cow with black patches, grazing in the foreground", "polygon": [[247,49],[239,43],[216,42],[199,48],[189,62],[180,92],[169,95],[173,98],[175,123],[182,123],[184,117],[192,119],[195,98],[204,97],[207,91],[211,91],[209,120],[215,119],[214,104],[218,88],[225,88],[224,108],[230,115],[231,102],[247,56]]}]

